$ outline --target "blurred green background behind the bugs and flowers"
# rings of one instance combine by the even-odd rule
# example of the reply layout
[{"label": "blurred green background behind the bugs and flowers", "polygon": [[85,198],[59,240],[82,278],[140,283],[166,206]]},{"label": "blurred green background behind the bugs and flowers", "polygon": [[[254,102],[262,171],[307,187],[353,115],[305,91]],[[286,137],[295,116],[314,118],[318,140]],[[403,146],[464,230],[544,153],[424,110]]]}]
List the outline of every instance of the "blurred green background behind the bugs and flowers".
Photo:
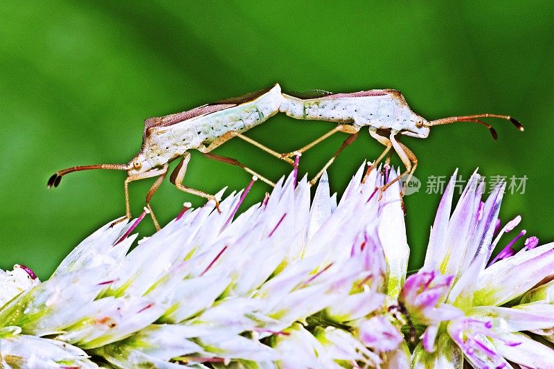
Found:
[{"label": "blurred green background behind the bugs and flowers", "polygon": [[[426,140],[403,140],[420,160],[415,175],[423,181],[420,192],[405,198],[411,269],[422,264],[439,201],[425,193],[427,177],[457,167],[464,179],[477,166],[485,176],[526,175],[526,192],[505,197],[501,217],[521,214],[528,235],[550,241],[554,3],[452,4],[4,1],[0,267],[19,262],[46,278],[80,240],[124,214],[125,173],[71,174],[47,190],[53,172],[127,162],[139,150],[145,118],[274,82],[289,91],[395,88],[428,119],[494,112],[524,123],[521,134],[508,122],[490,120],[497,142],[469,123],[436,127]],[[276,116],[247,135],[288,152],[330,127]],[[343,139],[337,134],[305,154],[301,172],[316,172]],[[332,190],[342,192],[360,163],[381,151],[364,131],[330,168]],[[289,172],[236,139],[215,153],[274,180]],[[249,178],[193,152],[186,185],[213,193],[243,188]],[[151,183],[130,186],[135,216]],[[268,190],[258,181],[247,204]],[[152,206],[166,223],[184,201],[203,203],[167,181]],[[153,230],[149,221],[139,227],[143,235]]]}]

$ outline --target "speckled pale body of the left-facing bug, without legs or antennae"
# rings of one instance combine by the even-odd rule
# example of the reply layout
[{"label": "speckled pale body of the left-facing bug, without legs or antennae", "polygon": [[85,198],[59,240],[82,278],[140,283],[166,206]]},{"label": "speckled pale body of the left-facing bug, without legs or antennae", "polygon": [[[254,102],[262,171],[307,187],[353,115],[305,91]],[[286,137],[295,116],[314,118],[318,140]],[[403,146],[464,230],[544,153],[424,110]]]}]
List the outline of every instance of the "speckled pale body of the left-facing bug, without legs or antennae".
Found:
[{"label": "speckled pale body of the left-facing bug, without legs or antennae", "polygon": [[[149,118],[142,150],[134,159],[138,159],[141,167],[132,171],[145,172],[161,166],[188,150],[206,147],[226,132],[247,131],[276,114],[281,100],[280,86],[275,84],[260,96],[242,103],[222,100],[183,113]],[[191,115],[192,118],[179,121]]]}]

